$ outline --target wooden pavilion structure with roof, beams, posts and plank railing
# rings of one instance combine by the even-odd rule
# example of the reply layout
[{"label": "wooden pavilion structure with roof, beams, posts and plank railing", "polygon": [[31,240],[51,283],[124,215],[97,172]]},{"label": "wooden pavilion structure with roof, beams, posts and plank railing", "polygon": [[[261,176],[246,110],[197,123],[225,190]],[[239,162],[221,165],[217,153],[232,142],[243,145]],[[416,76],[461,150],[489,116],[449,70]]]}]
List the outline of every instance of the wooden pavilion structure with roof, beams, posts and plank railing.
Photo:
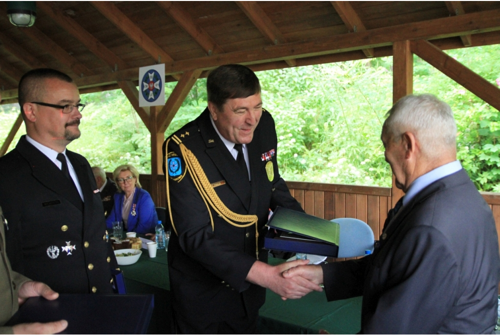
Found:
[{"label": "wooden pavilion structure with roof, beams, posts and plank railing", "polygon": [[[14,103],[22,74],[51,67],[80,93],[121,89],[151,134],[151,175],[141,177],[158,205],[164,132],[198,78],[222,64],[254,71],[393,57],[393,102],[412,93],[415,54],[500,110],[498,88],[442,50],[500,43],[500,2],[37,2],[34,26],[18,28],[0,2],[0,89]],[[139,108],[138,67],[165,64],[176,81],[166,104]],[[21,126],[4,141],[5,154]],[[305,211],[357,217],[378,236],[400,197],[392,188],[289,182]],[[500,196],[483,193],[500,230]]]}]

